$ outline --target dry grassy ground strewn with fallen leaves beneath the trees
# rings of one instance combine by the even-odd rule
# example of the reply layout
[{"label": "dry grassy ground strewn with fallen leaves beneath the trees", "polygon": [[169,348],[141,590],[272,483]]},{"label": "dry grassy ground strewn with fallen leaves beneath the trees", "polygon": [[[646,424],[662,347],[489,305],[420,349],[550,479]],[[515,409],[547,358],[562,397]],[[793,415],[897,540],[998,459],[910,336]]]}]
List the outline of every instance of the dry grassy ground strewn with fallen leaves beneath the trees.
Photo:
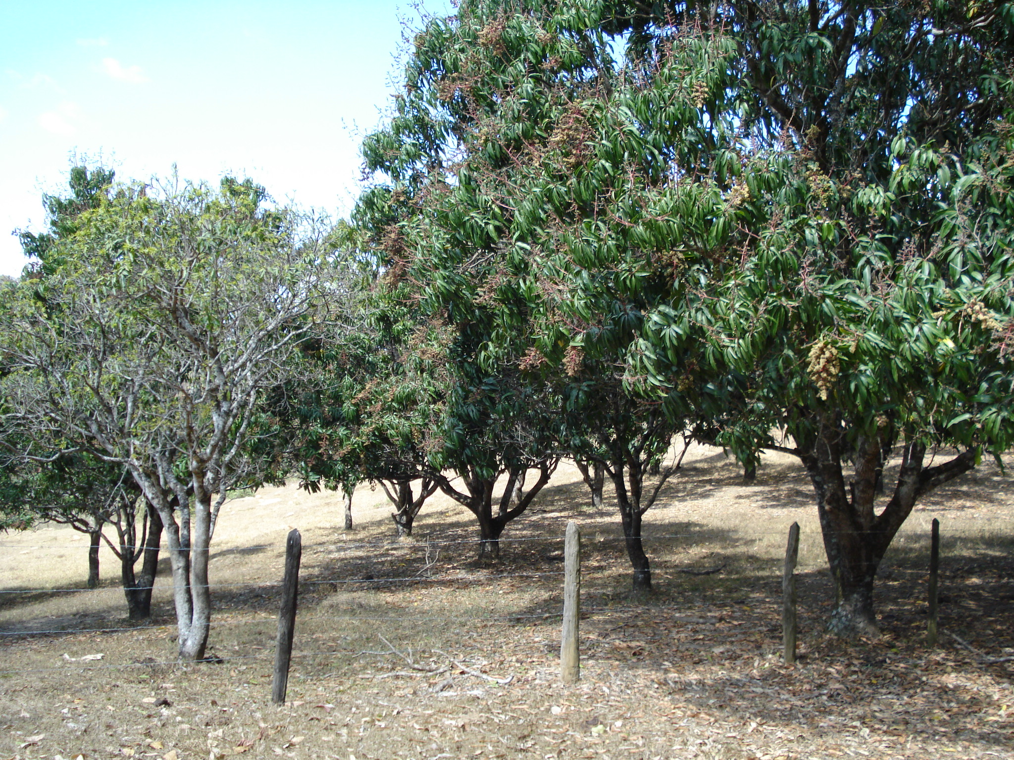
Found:
[{"label": "dry grassy ground strewn with fallen leaves beneath the trees", "polygon": [[[102,587],[84,591],[80,534],[0,536],[0,758],[1014,757],[1011,485],[1009,470],[984,462],[920,505],[877,582],[882,635],[854,642],[823,633],[832,589],[812,489],[783,456],[747,484],[720,450],[691,449],[646,516],[647,598],[628,591],[611,493],[592,510],[566,464],[508,526],[497,562],[474,558],[470,515],[440,496],[402,542],[368,486],[348,533],[334,493],[236,499],[213,542],[213,662],[197,665],[172,663],[164,560],[154,618],[131,624],[108,551]],[[933,518],[942,636],[929,649]],[[573,687],[559,679],[569,520],[583,540]],[[787,667],[781,567],[793,521],[800,660]],[[276,707],[293,527],[300,608],[290,701]]]}]

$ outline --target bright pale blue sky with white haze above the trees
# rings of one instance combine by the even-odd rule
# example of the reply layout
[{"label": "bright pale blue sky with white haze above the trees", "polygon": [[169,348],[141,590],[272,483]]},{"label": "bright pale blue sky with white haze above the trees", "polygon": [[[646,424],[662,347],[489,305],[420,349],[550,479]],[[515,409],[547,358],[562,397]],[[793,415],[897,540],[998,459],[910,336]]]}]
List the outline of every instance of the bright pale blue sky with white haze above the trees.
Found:
[{"label": "bright pale blue sky with white haze above the trees", "polygon": [[[448,0],[426,0],[450,12]],[[407,0],[0,0],[0,274],[24,264],[15,228],[72,155],[118,177],[248,175],[279,201],[351,208],[359,142],[396,78]]]}]

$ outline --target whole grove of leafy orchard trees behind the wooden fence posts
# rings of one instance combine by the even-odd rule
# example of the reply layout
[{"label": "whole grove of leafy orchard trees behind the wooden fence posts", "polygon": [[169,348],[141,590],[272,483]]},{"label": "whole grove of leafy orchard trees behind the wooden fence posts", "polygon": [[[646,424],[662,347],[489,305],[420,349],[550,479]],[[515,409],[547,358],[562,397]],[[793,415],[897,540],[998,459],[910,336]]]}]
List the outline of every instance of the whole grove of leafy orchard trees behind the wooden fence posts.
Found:
[{"label": "whole grove of leafy orchard trees behind the wooden fence posts", "polygon": [[146,505],[194,659],[231,487],[380,482],[400,534],[440,489],[495,557],[567,456],[646,590],[683,434],[799,457],[830,626],[875,630],[919,498],[1014,437],[1012,34],[980,0],[462,0],[348,223],[80,169],[3,292],[4,488]]}]

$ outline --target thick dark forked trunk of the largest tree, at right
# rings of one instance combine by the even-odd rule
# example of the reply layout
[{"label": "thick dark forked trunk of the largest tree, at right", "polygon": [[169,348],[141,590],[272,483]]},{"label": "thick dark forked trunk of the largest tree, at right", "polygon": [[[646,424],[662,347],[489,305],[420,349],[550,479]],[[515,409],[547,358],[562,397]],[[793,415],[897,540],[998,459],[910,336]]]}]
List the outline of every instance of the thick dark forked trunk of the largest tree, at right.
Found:
[{"label": "thick dark forked trunk of the largest tree, at right", "polygon": [[859,439],[854,453],[854,478],[847,483],[842,464],[845,439],[842,426],[824,417],[809,445],[794,453],[813,483],[824,551],[838,587],[838,603],[828,629],[847,637],[875,636],[879,630],[873,583],[884,552],[918,499],[974,467],[977,452],[969,449],[950,461],[926,468],[926,445],[907,441],[893,493],[877,514],[882,442],[876,436]]}]

